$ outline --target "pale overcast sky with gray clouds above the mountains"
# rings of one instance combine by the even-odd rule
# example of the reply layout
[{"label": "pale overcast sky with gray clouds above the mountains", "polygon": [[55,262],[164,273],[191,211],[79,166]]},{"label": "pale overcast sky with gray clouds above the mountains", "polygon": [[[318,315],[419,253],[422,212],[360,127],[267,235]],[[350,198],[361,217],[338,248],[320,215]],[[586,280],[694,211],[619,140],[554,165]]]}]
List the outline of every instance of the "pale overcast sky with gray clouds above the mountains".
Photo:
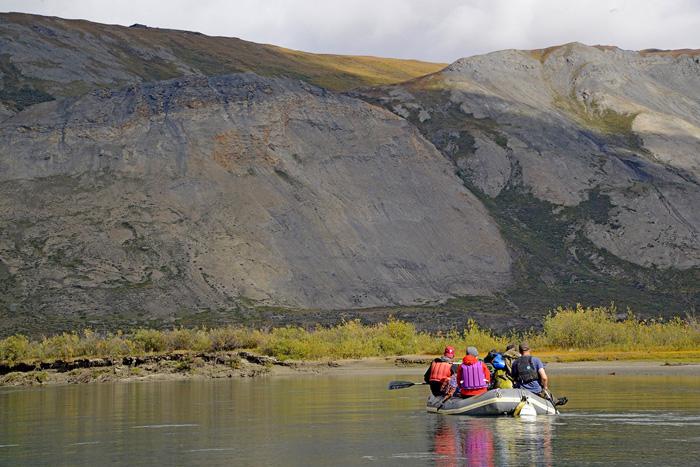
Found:
[{"label": "pale overcast sky with gray clouds above the mountains", "polygon": [[0,10],[441,62],[572,41],[700,48],[700,0],[0,0]]}]

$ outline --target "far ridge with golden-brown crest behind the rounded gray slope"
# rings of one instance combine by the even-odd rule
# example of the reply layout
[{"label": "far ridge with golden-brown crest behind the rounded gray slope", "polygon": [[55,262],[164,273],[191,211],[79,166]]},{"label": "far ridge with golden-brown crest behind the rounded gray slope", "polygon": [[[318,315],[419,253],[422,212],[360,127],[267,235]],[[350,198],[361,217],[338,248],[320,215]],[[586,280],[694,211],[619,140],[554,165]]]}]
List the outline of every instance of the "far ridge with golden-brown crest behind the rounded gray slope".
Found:
[{"label": "far ridge with golden-brown crest behind the rounded gray slope", "polygon": [[[345,90],[397,82],[444,66],[418,60],[312,54],[235,37],[23,13],[0,13],[0,43],[1,71],[16,76],[16,92],[23,88],[35,91],[37,102],[137,81],[246,71]],[[32,102],[31,94],[25,94],[21,97]],[[0,101],[16,105],[11,97],[6,92]]]}]

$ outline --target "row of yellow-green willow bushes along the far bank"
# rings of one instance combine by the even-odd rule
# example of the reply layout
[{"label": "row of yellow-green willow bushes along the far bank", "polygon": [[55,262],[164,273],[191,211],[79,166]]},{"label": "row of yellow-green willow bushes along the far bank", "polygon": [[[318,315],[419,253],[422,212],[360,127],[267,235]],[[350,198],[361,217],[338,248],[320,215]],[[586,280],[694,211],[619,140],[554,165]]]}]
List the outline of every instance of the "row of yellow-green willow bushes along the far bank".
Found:
[{"label": "row of yellow-green willow bushes along the far bank", "polygon": [[508,342],[530,341],[536,351],[698,350],[700,325],[694,318],[640,321],[631,313],[617,319],[614,306],[557,308],[540,332],[496,336],[470,321],[464,330],[429,334],[412,323],[390,319],[363,325],[347,321],[334,327],[287,326],[270,331],[227,326],[215,329],[138,329],[99,335],[90,330],[30,340],[14,335],[0,340],[0,362],[50,361],[83,357],[121,357],[175,351],[218,352],[249,349],[280,359],[365,358],[406,354],[439,355],[447,345],[458,355],[473,345],[484,356]]}]

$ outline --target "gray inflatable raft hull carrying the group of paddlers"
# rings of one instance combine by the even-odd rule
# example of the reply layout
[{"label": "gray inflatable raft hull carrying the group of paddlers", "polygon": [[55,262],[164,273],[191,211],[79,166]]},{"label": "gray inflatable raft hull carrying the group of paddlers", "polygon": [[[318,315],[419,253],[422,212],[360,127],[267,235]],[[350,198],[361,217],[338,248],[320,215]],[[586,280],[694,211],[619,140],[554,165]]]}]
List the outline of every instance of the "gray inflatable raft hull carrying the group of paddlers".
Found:
[{"label": "gray inflatable raft hull carrying the group of paddlers", "polygon": [[480,396],[462,399],[453,397],[442,407],[443,397],[428,397],[428,412],[447,415],[513,415],[521,402],[532,405],[537,415],[556,415],[559,413],[554,405],[524,389],[492,389]]}]

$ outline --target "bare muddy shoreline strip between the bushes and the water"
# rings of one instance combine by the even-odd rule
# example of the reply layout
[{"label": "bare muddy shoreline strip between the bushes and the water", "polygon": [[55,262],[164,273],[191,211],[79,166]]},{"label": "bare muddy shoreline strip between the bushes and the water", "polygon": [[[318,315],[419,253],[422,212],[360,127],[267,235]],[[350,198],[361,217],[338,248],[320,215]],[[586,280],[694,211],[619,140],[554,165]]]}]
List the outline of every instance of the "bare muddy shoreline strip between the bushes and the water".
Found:
[{"label": "bare muddy shoreline strip between the bushes and the water", "polygon": [[[678,357],[681,352],[674,352]],[[700,355],[686,352],[680,359],[567,361],[541,354],[552,374],[693,374],[700,376]],[[688,358],[692,355],[693,358]],[[386,374],[401,371],[419,378],[432,357],[409,355],[345,360],[282,361],[247,351],[192,353],[123,357],[118,359],[75,359],[70,361],[0,365],[0,387],[89,384],[134,381],[255,378],[260,376]]]}]

